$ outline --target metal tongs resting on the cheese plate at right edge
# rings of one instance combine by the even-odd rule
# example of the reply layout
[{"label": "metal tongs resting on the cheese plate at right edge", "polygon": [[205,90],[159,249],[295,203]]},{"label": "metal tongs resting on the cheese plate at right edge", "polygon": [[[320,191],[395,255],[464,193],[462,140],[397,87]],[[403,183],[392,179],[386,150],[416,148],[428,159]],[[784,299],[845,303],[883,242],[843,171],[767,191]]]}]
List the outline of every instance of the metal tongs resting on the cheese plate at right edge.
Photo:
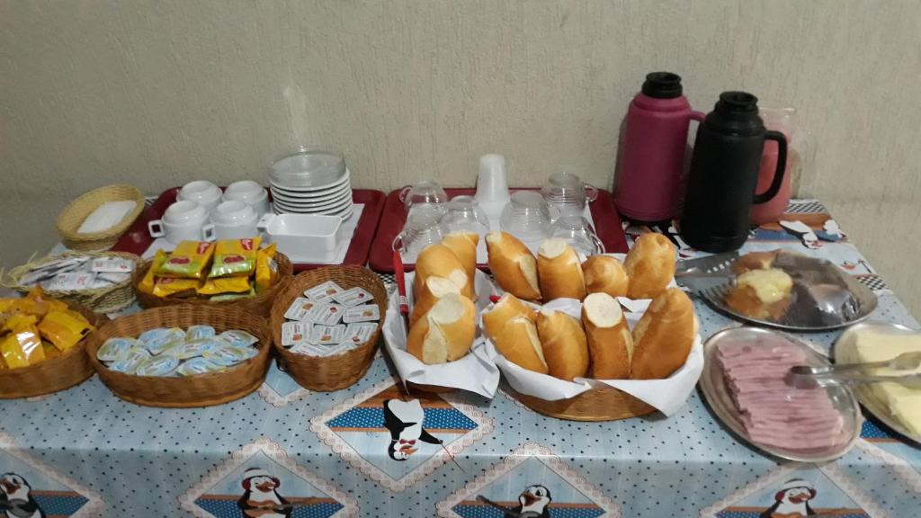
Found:
[{"label": "metal tongs resting on the cheese plate at right edge", "polygon": [[[798,365],[787,372],[787,384],[795,388],[816,388],[853,383],[891,382],[921,389],[921,373],[914,372],[921,367],[921,352],[906,352],[887,361],[871,363],[848,363],[829,367]],[[870,370],[888,368],[892,371],[909,371],[903,375],[881,375]]]}]

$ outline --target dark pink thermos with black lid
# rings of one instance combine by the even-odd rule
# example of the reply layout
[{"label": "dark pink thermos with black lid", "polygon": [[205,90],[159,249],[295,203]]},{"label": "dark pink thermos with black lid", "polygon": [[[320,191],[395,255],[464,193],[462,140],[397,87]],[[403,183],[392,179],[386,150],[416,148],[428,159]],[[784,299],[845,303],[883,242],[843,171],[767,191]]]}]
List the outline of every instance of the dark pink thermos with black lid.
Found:
[{"label": "dark pink thermos with black lid", "polygon": [[635,221],[675,218],[684,194],[688,125],[703,121],[682,95],[682,78],[670,72],[648,74],[627,111],[621,171],[615,204]]}]

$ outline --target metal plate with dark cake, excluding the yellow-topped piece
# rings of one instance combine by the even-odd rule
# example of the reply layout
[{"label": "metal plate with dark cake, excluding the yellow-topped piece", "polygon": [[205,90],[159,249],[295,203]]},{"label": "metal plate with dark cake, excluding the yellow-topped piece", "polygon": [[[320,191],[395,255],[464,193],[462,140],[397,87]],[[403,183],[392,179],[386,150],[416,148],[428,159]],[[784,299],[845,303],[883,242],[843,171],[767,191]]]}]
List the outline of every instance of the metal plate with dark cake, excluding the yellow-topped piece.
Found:
[{"label": "metal plate with dark cake, excluding the yellow-topped piece", "polygon": [[790,305],[776,321],[741,314],[726,304],[733,283],[702,291],[700,296],[719,312],[749,322],[789,331],[828,331],[857,324],[876,309],[873,290],[832,262],[797,253],[780,253],[773,265],[793,277]]}]

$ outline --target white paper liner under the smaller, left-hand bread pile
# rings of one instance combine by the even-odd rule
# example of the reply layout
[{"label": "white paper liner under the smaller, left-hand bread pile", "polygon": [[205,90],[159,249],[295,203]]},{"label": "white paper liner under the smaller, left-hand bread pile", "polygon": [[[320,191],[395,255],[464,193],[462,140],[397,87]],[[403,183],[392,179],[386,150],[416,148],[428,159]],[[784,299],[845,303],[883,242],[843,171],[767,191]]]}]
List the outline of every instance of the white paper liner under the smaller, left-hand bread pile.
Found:
[{"label": "white paper liner under the smaller, left-hand bread pile", "polygon": [[[412,311],[414,272],[407,273],[405,278],[406,298],[410,301],[410,311]],[[476,312],[479,315],[484,308],[490,305],[489,297],[496,295],[497,292],[489,277],[486,277],[480,270],[476,271],[473,286],[476,289]],[[457,361],[426,365],[406,352],[406,329],[400,316],[398,299],[399,293],[394,291],[387,305],[383,333],[384,344],[387,346],[387,351],[393,359],[393,365],[400,373],[403,383],[412,382],[456,388],[489,398],[495,396],[495,390],[499,385],[499,371],[484,348],[484,337],[480,332],[479,324],[470,354]]]}]

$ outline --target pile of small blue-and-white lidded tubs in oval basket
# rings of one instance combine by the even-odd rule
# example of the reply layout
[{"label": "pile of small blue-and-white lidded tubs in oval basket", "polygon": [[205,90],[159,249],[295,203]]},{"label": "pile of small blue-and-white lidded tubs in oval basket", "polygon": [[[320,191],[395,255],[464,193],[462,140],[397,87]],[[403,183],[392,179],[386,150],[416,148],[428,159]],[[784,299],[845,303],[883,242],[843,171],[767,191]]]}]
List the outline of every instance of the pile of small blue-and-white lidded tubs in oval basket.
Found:
[{"label": "pile of small blue-and-white lidded tubs in oval basket", "polygon": [[109,338],[96,358],[112,371],[135,376],[193,376],[225,371],[259,354],[246,331],[217,335],[210,325],[149,329],[137,338]]}]

